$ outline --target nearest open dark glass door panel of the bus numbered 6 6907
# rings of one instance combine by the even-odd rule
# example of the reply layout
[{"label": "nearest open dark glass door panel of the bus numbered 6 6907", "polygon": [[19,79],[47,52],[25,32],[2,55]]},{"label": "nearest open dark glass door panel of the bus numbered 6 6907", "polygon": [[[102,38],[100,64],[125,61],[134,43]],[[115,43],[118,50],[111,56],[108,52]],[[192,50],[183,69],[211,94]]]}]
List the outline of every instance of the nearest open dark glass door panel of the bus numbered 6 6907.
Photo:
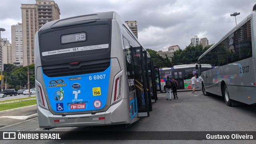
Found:
[{"label": "nearest open dark glass door panel of the bus numbered 6 6907", "polygon": [[132,60],[134,64],[134,85],[136,88],[136,101],[138,108],[138,117],[149,116],[149,102],[147,92],[147,80],[145,73],[145,59],[142,46],[131,47]]}]

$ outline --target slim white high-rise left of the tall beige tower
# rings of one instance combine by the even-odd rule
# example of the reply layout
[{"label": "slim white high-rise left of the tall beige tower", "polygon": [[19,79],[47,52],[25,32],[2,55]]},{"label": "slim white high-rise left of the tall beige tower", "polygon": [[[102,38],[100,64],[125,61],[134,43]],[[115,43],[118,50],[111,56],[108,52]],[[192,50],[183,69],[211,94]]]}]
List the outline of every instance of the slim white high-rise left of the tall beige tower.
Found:
[{"label": "slim white high-rise left of the tall beige tower", "polygon": [[23,66],[22,24],[12,25],[12,63]]}]

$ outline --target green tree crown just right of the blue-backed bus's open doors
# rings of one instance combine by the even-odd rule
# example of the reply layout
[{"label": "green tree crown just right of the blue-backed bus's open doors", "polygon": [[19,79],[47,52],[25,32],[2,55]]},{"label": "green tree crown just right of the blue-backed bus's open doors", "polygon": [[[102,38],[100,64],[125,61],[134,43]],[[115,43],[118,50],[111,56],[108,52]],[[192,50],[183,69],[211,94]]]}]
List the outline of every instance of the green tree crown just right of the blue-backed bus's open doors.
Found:
[{"label": "green tree crown just right of the blue-backed bus's open doors", "polygon": [[168,68],[171,67],[171,62],[166,58],[162,58],[155,50],[151,50],[149,48],[146,49],[152,58],[154,65],[158,66],[159,68]]}]

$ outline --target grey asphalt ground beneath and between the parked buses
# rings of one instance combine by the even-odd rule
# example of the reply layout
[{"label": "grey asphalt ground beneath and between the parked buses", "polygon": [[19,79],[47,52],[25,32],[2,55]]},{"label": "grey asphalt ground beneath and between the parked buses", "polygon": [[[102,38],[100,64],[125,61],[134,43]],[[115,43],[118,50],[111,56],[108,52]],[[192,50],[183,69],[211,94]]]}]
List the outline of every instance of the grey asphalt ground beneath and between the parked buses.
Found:
[{"label": "grey asphalt ground beneath and between the parked buses", "polygon": [[[20,112],[18,112],[20,113]],[[141,118],[135,124],[55,128],[50,131],[256,131],[256,106],[226,106],[220,96],[204,96],[201,91],[178,92],[178,99],[166,100],[166,93],[158,94],[150,117]],[[38,126],[38,118],[23,120],[0,128],[0,131],[44,131]],[[12,141],[28,143],[29,141]],[[33,141],[35,142],[35,141]],[[74,143],[75,141],[38,140],[36,143]],[[85,141],[77,141],[84,143]],[[86,143],[253,143],[254,141],[86,141]],[[3,141],[9,143],[9,141]]]}]

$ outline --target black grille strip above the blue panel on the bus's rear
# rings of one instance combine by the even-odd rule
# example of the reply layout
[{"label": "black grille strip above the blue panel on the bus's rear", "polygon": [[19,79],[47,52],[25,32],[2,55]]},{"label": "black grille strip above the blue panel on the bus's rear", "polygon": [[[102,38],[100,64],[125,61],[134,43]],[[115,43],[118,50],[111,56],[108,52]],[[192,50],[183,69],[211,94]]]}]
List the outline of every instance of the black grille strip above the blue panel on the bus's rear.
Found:
[{"label": "black grille strip above the blue panel on the bus's rear", "polygon": [[103,72],[109,66],[110,66],[110,62],[82,65],[82,66],[78,66],[78,68],[72,68],[69,65],[51,66],[51,67],[43,67],[43,72],[48,77],[74,76],[79,74],[91,74],[96,72]]}]

